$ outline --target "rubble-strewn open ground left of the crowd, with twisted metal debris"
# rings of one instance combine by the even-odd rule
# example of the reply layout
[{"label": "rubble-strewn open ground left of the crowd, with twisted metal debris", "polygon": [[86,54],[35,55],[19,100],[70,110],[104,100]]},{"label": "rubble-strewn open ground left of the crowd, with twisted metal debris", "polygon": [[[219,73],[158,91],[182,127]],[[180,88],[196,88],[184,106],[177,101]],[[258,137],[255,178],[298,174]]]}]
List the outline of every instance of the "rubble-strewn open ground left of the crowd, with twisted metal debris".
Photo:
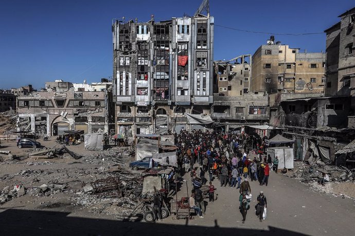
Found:
[{"label": "rubble-strewn open ground left of the crowd, with twisted metal debris", "polygon": [[119,218],[139,204],[141,173],[128,168],[134,159],[129,156],[132,147],[87,151],[83,143],[63,148],[51,140],[39,142],[45,147],[20,149],[15,141],[2,140],[0,208],[56,209],[81,216],[95,212]]}]

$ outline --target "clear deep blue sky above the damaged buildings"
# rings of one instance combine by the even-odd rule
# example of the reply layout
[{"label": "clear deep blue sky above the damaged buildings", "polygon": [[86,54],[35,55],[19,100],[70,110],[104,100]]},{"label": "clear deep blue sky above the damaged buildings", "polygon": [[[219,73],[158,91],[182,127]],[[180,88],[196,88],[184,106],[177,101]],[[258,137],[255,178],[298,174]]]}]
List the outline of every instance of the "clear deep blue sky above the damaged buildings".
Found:
[{"label": "clear deep blue sky above the damaged buildings", "polygon": [[[62,79],[81,83],[112,75],[113,18],[147,22],[193,15],[202,0],[2,1],[0,89]],[[353,0],[210,0],[215,24],[272,33],[323,32],[354,7]],[[270,34],[215,27],[215,60],[253,54]],[[325,51],[325,34],[275,35],[276,41],[308,52]]]}]

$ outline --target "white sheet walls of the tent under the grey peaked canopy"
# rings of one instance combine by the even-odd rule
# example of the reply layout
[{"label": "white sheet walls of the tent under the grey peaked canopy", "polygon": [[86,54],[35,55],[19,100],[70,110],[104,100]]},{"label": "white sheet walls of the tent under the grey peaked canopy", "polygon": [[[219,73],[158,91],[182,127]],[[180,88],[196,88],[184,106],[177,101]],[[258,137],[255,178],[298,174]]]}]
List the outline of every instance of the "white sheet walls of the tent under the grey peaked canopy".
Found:
[{"label": "white sheet walls of the tent under the grey peaked canopy", "polygon": [[268,155],[271,156],[272,161],[275,157],[278,158],[278,169],[293,169],[293,148],[289,147],[273,147],[268,148]]}]

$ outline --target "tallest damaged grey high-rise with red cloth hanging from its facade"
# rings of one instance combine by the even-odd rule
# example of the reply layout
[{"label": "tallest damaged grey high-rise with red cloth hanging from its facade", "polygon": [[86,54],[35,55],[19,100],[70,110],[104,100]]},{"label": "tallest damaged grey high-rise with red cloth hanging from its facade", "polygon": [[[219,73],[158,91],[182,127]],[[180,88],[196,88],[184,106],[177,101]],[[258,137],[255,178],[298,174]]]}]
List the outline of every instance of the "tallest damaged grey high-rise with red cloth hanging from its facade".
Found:
[{"label": "tallest damaged grey high-rise with red cloth hanging from its facade", "polygon": [[116,20],[112,32],[117,132],[179,131],[189,128],[185,112],[209,113],[214,17],[198,11],[161,22]]}]

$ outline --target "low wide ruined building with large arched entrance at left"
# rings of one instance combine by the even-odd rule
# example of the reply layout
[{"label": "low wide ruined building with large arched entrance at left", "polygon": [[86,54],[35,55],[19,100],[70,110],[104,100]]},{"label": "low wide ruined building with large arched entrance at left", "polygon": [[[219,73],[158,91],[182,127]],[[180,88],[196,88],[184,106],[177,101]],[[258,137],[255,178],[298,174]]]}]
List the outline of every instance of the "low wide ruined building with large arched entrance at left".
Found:
[{"label": "low wide ruined building with large arched entrance at left", "polygon": [[[108,132],[110,86],[105,82],[73,84],[57,80],[47,82],[41,91],[18,96],[17,131],[48,136],[63,134],[65,130]],[[20,119],[25,121],[20,123]]]}]

